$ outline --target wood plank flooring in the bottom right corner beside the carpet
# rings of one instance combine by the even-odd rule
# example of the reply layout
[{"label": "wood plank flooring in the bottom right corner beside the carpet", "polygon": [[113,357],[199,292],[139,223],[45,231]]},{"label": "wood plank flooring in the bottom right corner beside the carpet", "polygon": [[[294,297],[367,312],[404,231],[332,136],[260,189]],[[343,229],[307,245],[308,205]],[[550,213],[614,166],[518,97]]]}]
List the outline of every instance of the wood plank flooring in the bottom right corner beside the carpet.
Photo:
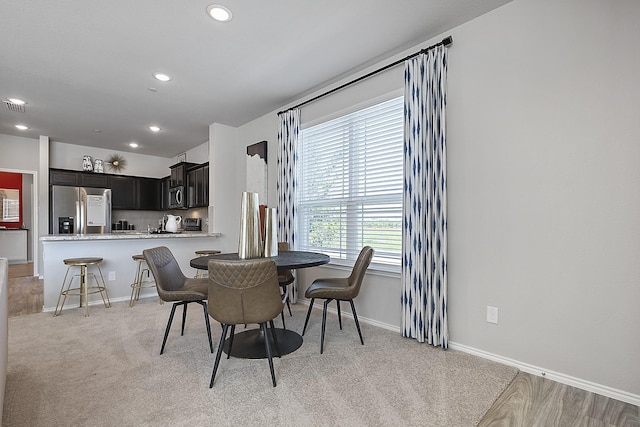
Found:
[{"label": "wood plank flooring in the bottom right corner beside the carpet", "polygon": [[518,373],[478,427],[640,427],[640,408]]}]

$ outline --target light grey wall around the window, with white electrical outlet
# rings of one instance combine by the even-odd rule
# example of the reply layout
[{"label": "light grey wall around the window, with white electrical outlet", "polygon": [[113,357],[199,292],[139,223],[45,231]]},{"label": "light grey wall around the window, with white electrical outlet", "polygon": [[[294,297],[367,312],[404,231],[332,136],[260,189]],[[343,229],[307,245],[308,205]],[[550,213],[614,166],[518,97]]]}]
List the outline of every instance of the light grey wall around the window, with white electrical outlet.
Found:
[{"label": "light grey wall around the window, with white electrical outlet", "polygon": [[[453,36],[452,343],[636,404],[638,18],[634,0],[516,0],[406,52]],[[371,96],[388,89],[381,82]],[[344,98],[322,102],[340,109]],[[303,107],[303,121],[314,109]],[[269,140],[274,193],[276,127],[273,112],[239,129],[239,141]],[[339,274],[310,269],[300,283],[329,273]],[[398,327],[399,280],[367,280],[359,315]],[[487,305],[498,307],[498,325],[486,323]]]}]

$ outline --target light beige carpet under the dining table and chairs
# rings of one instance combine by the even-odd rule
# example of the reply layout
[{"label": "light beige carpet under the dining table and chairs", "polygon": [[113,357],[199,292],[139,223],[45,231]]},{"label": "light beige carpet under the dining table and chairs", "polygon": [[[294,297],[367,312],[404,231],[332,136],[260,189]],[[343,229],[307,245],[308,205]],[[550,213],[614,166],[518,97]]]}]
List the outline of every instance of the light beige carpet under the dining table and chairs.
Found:
[{"label": "light beige carpet under the dining table and chairs", "polygon": [[[292,308],[287,328],[301,332],[306,306]],[[9,319],[2,425],[473,426],[517,373],[367,324],[363,346],[353,320],[340,331],[335,315],[321,355],[314,310],[302,347],[274,360],[277,387],[266,360],[223,358],[209,389],[215,355],[199,305],[184,336],[177,310],[159,355],[170,309],[147,299],[91,306],[88,318],[71,308]]]}]

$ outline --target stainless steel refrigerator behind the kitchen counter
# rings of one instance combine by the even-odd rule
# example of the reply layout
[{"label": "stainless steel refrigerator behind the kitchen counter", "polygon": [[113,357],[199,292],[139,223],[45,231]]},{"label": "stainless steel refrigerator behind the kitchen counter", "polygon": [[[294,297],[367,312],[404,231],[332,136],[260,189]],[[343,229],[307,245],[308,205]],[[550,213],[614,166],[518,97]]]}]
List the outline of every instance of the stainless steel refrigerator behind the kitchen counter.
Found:
[{"label": "stainless steel refrigerator behind the kitchen counter", "polygon": [[111,190],[54,185],[50,216],[50,234],[110,233]]}]

